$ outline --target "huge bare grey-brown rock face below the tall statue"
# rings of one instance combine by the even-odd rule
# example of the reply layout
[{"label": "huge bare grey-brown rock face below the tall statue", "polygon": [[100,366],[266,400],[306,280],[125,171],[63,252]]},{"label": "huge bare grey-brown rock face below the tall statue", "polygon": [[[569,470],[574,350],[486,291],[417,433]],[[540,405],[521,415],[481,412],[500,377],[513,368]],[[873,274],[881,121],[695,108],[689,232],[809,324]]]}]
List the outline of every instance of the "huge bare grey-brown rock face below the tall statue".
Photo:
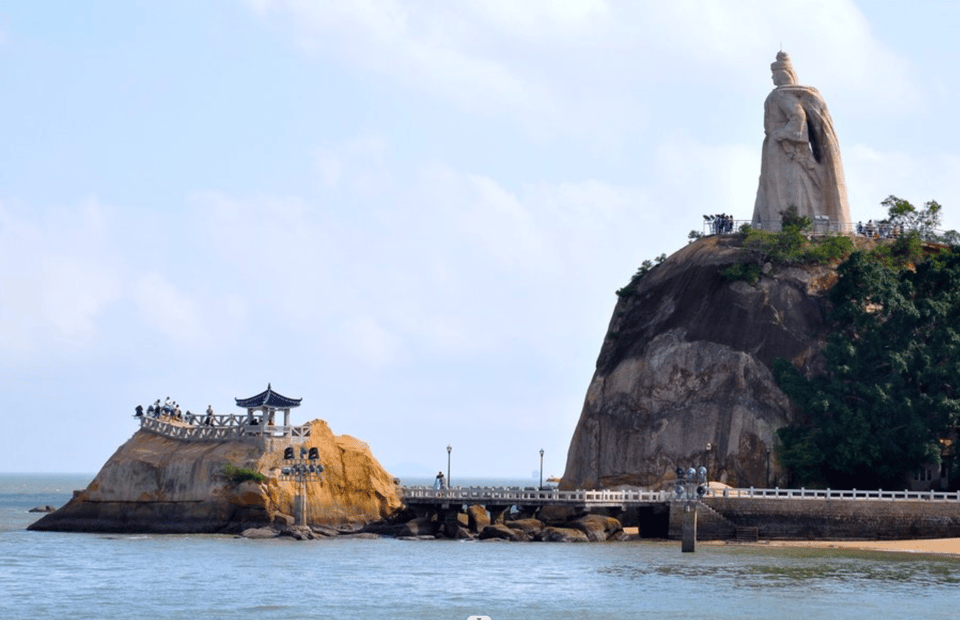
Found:
[{"label": "huge bare grey-brown rock face below the tall statue", "polygon": [[817,371],[837,276],[768,266],[756,284],[726,281],[740,239],[692,243],[621,292],[561,488],[652,486],[700,464],[730,485],[777,484],[776,430],[795,412],[770,366]]}]

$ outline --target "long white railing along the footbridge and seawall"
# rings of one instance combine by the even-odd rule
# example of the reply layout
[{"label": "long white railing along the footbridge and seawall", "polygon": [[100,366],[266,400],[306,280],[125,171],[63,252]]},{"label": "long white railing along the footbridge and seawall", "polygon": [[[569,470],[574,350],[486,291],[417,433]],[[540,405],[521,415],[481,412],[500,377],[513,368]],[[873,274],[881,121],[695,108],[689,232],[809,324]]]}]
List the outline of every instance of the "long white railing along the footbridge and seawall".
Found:
[{"label": "long white railing along the footbridge and seawall", "polygon": [[[577,504],[577,505],[620,505],[650,504],[673,500],[685,500],[675,491],[610,491],[577,490],[560,491],[557,489],[537,489],[534,487],[453,487],[434,489],[425,486],[403,487],[404,499],[417,500],[417,503],[539,503],[539,504]],[[822,499],[822,500],[877,500],[877,501],[935,501],[960,502],[960,491],[950,493],[941,491],[884,491],[882,489],[865,491],[861,489],[756,489],[750,488],[709,488],[704,497],[731,499]]]}]

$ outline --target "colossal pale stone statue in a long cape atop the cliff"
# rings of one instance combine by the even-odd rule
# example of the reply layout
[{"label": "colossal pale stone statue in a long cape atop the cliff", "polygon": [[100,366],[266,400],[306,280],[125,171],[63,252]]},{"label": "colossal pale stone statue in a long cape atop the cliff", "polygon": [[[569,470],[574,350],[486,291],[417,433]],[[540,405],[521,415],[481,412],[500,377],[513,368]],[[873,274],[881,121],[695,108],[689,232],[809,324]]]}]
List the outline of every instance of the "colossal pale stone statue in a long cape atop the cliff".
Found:
[{"label": "colossal pale stone statue in a long cape atop the cliff", "polygon": [[[786,52],[770,65],[776,88],[763,104],[763,157],[753,226],[780,230],[781,211],[797,208],[829,230],[850,225],[840,147],[827,104],[816,88],[799,86]],[[823,230],[825,227],[818,227]]]}]

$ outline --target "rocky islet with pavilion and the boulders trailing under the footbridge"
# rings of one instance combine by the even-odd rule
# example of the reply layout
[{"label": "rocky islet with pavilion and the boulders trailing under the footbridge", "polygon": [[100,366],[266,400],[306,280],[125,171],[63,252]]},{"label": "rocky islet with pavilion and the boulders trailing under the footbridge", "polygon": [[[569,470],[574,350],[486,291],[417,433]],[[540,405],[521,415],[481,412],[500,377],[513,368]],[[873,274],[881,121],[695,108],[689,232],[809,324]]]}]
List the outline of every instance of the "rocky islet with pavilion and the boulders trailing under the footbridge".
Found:
[{"label": "rocky islet with pavilion and the boulders trailing under the footbridge", "polygon": [[449,501],[436,509],[406,507],[398,481],[366,444],[335,436],[322,420],[290,424],[290,410],[300,399],[268,386],[254,397],[236,400],[245,413],[208,409],[205,415],[183,414],[175,403],[159,401],[146,411],[138,408],[140,430],[86,489],[28,529],[300,540],[338,535],[554,542],[626,537],[617,519],[577,510],[521,515],[508,506]]}]

